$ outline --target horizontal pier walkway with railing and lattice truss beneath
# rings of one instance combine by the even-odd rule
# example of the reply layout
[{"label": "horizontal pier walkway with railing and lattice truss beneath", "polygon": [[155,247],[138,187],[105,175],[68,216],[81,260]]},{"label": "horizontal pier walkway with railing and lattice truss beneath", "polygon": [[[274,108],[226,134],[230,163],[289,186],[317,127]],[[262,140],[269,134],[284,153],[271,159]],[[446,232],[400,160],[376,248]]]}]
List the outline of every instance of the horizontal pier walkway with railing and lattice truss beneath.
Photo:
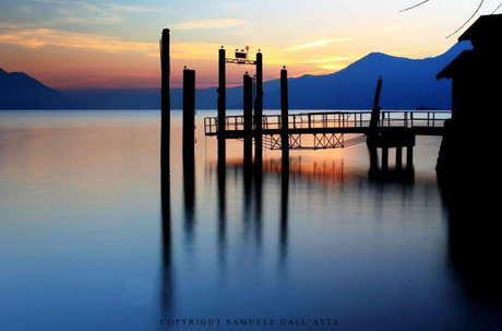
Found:
[{"label": "horizontal pier walkway with railing and lattice truss beneath", "polygon": [[[347,147],[366,142],[370,133],[372,111],[315,111],[288,115],[289,149],[328,149]],[[381,111],[379,120],[380,132],[406,132],[407,135],[442,135],[444,121],[451,116],[450,111],[416,110],[416,111]],[[256,135],[256,123],[252,120],[252,134]],[[280,115],[263,115],[261,133],[264,145],[271,150],[280,149],[283,130]],[[218,134],[218,118],[204,118],[205,135]],[[314,144],[301,144],[301,135],[314,135]],[[344,134],[361,134],[344,139]],[[243,139],[244,116],[227,116],[225,118],[225,139]]]}]

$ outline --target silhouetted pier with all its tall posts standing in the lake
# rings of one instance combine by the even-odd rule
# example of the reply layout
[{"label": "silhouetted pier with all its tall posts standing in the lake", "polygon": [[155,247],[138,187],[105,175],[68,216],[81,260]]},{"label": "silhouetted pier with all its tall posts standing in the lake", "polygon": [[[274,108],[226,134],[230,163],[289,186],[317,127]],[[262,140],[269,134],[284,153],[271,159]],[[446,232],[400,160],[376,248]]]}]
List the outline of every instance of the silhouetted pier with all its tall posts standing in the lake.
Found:
[{"label": "silhouetted pier with all its tall posts standing in the lake", "polygon": [[[169,174],[169,31],[162,38],[163,67],[163,128],[162,168]],[[380,93],[383,81],[376,83],[371,111],[312,111],[289,114],[288,76],[286,67],[280,70],[280,113],[263,114],[263,55],[250,60],[248,47],[236,50],[227,58],[225,48],[218,50],[218,111],[216,117],[204,118],[206,137],[218,138],[218,168],[225,170],[226,140],[243,141],[244,164],[254,164],[258,173],[263,164],[263,149],[282,150],[283,166],[289,162],[289,150],[345,149],[366,143],[370,152],[371,168],[378,168],[378,149],[381,149],[382,170],[389,168],[389,149],[396,149],[396,169],[403,167],[403,149],[406,147],[406,168],[413,169],[414,146],[417,135],[443,135],[444,122],[451,111],[382,111]],[[243,75],[242,115],[226,115],[226,64],[251,64],[254,76]],[[192,173],[194,164],[195,71],[183,72],[183,166]],[[303,139],[310,137],[310,139]],[[253,159],[254,144],[254,159]]]}]

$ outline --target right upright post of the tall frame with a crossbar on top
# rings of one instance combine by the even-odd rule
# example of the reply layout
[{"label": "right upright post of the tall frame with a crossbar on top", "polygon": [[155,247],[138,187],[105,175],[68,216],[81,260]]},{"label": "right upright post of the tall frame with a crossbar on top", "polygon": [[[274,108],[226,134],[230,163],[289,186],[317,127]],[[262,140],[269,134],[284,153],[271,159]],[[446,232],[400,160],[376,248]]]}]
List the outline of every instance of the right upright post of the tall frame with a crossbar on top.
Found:
[{"label": "right upright post of the tall frame with a crossbar on top", "polygon": [[254,103],[254,125],[256,128],[254,138],[254,165],[262,167],[263,142],[262,142],[262,118],[263,118],[263,56],[256,54],[256,101]]}]

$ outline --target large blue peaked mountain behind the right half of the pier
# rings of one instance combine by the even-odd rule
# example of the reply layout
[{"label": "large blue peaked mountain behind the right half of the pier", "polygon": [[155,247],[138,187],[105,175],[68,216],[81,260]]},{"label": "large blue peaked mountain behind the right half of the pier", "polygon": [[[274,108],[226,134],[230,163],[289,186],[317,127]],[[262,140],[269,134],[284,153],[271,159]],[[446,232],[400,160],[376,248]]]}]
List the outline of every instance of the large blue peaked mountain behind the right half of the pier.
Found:
[{"label": "large blue peaked mountain behind the right half of the pier", "polygon": [[[297,109],[368,109],[376,80],[382,76],[380,104],[384,109],[415,109],[419,105],[451,109],[451,82],[437,81],[435,75],[468,48],[468,44],[458,44],[439,57],[421,60],[372,52],[336,73],[290,80],[289,105]],[[264,107],[276,107],[279,99],[279,90],[271,91]]]}]

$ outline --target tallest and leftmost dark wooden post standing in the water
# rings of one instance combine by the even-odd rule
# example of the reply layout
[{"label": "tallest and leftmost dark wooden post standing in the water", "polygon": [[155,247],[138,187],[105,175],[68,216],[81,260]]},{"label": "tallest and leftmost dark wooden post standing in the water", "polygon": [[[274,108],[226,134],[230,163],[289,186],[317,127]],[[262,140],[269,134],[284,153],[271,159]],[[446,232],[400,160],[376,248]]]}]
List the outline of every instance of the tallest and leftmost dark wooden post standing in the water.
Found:
[{"label": "tallest and leftmost dark wooden post standing in the water", "polygon": [[169,56],[169,29],[163,29],[160,39],[160,68],[162,68],[162,115],[160,115],[160,169],[169,176],[170,153],[170,56]]}]

